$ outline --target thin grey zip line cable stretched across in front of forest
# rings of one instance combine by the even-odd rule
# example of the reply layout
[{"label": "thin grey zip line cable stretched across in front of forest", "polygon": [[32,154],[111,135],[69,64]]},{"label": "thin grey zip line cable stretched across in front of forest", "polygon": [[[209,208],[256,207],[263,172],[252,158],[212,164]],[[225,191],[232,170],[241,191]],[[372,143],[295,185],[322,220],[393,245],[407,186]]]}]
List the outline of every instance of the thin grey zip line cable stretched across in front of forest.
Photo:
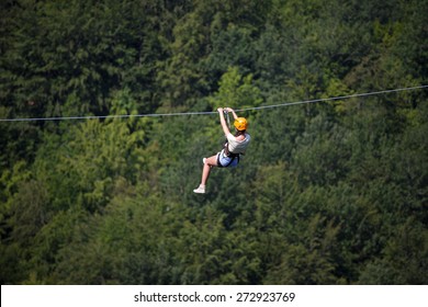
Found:
[{"label": "thin grey zip line cable stretched across in front of forest", "polygon": [[[394,89],[394,90],[383,90],[383,91],[376,91],[376,92],[349,94],[349,95],[333,96],[333,98],[322,98],[322,99],[303,100],[303,101],[295,101],[295,102],[285,102],[285,103],[281,103],[281,104],[261,105],[261,106],[254,106],[254,107],[246,107],[246,109],[236,110],[236,112],[246,112],[246,111],[282,107],[282,106],[306,104],[306,103],[315,103],[315,102],[345,100],[345,99],[359,98],[359,96],[369,96],[369,95],[379,95],[379,94],[393,93],[393,92],[419,90],[419,89],[425,89],[425,88],[428,88],[428,86],[417,86],[417,87],[401,88],[401,89]],[[214,112],[214,111],[210,112],[210,111],[207,111],[207,112],[184,112],[184,113],[151,113],[151,114],[34,117],[34,118],[32,118],[32,117],[29,117],[29,118],[22,117],[22,118],[0,118],[0,122],[71,121],[71,120],[99,120],[99,118],[105,118],[106,120],[106,118],[164,117],[164,116],[188,116],[188,115],[210,115],[210,114],[217,114],[217,112]]]}]

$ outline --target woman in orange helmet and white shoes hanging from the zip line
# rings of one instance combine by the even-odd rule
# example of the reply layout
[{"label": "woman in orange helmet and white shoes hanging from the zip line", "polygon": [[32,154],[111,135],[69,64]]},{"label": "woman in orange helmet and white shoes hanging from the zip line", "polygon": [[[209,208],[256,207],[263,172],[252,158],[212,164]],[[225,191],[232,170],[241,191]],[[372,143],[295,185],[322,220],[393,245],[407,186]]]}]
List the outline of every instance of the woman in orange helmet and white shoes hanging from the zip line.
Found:
[{"label": "woman in orange helmet and white shoes hanging from the zip line", "polygon": [[[227,141],[224,146],[224,149],[210,158],[203,158],[204,167],[202,170],[202,180],[198,189],[193,190],[194,193],[203,194],[205,193],[206,181],[209,180],[211,169],[213,167],[227,168],[236,167],[239,163],[239,155],[245,154],[247,146],[251,139],[250,135],[247,134],[247,120],[244,117],[236,116],[236,113],[230,107],[218,107],[219,121],[224,134],[226,135]],[[232,112],[234,115],[235,122],[234,126],[236,129],[235,136],[232,135],[229,128],[224,118],[223,111]]]}]

